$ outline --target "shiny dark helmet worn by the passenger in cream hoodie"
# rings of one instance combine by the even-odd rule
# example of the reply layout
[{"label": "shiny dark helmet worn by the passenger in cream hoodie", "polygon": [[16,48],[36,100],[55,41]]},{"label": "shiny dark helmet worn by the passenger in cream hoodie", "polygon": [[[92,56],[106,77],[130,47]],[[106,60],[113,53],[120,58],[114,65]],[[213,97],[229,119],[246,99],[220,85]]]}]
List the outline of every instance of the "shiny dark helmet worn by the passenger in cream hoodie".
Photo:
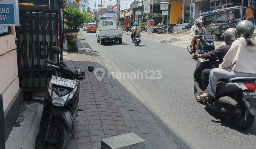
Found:
[{"label": "shiny dark helmet worn by the passenger in cream hoodie", "polygon": [[243,20],[236,25],[238,37],[251,37],[254,34],[254,24],[251,21]]}]

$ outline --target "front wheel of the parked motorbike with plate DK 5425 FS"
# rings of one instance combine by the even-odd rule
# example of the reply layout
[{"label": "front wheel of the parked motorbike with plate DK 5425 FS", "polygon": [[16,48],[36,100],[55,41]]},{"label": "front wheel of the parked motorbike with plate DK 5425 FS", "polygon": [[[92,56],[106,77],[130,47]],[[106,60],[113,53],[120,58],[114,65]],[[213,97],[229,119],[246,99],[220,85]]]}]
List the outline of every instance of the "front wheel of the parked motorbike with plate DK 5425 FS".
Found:
[{"label": "front wheel of the parked motorbike with plate DK 5425 FS", "polygon": [[61,121],[53,120],[48,133],[50,141],[44,143],[48,123],[37,134],[35,149],[66,149],[69,142],[69,129]]}]

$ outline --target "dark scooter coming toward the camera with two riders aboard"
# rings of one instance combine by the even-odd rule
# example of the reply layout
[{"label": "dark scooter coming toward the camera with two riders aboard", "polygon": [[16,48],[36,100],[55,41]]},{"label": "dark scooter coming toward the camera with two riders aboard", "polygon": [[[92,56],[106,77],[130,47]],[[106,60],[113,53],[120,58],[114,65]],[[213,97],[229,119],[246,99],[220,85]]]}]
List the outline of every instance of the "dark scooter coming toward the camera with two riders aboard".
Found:
[{"label": "dark scooter coming toward the camera with two riders aboard", "polygon": [[196,39],[200,39],[200,48],[198,49],[198,53],[203,52],[203,51],[212,51],[215,50],[214,47],[214,38],[212,37],[211,34],[205,34],[205,35],[199,35],[199,37],[195,38],[194,40],[194,45],[193,45],[193,51],[191,51],[191,45],[187,46],[188,52],[192,55],[193,59],[196,59],[196,48],[197,48],[197,43]]}]

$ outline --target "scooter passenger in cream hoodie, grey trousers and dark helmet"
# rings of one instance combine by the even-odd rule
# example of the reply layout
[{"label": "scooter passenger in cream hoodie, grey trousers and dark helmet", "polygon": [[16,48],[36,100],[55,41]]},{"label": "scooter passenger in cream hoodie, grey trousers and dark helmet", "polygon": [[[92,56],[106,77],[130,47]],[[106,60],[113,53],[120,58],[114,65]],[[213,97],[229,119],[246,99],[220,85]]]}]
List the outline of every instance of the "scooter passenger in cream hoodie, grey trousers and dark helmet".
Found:
[{"label": "scooter passenger in cream hoodie, grey trousers and dark helmet", "polygon": [[252,37],[254,29],[254,24],[248,20],[237,24],[239,38],[233,42],[219,68],[210,71],[208,87],[200,98],[214,96],[219,79],[256,77],[256,39]]}]

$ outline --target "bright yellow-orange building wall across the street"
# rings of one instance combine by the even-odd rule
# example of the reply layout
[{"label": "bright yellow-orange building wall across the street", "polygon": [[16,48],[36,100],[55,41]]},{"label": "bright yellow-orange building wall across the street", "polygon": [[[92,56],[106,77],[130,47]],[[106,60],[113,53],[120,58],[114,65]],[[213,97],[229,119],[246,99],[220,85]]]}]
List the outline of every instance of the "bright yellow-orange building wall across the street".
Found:
[{"label": "bright yellow-orange building wall across the street", "polygon": [[170,9],[170,24],[177,24],[178,17],[182,16],[182,1],[174,1],[169,3]]}]

